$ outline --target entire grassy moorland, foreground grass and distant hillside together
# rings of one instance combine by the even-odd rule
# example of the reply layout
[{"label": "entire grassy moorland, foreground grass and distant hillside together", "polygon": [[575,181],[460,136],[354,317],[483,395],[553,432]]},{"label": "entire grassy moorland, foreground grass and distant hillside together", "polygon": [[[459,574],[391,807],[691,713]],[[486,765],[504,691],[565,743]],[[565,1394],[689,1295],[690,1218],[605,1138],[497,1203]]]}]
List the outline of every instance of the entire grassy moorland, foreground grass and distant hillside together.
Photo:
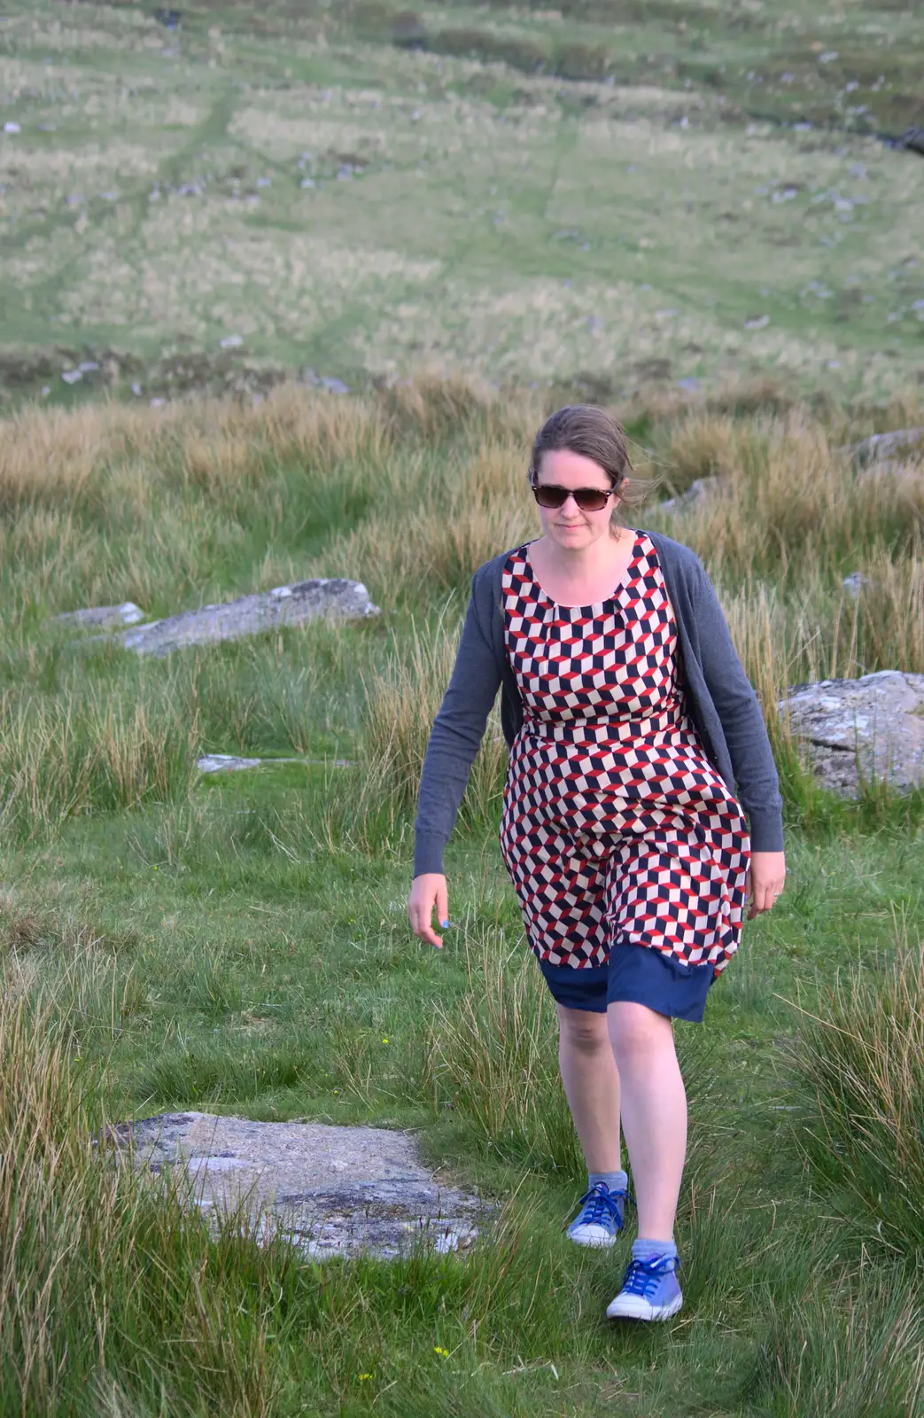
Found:
[{"label": "entire grassy moorland, foreground grass and distant hillside together", "polygon": [[[826,797],[775,709],[924,674],[920,458],[843,452],[924,423],[924,169],[877,136],[921,122],[918,20],[7,4],[4,1418],[924,1418],[924,793]],[[713,576],[787,814],[784,898],[677,1027],[686,1302],[648,1329],[604,1320],[624,1248],[563,1236],[584,1171],[493,723],[445,950],[405,915],[469,576],[534,535],[530,438],[574,390],[641,479],[723,476],[638,523]],[[166,661],[47,624],[309,576],[383,614]],[[412,1129],[496,1224],[398,1263],[214,1236],[94,1147],[187,1107]]]}]

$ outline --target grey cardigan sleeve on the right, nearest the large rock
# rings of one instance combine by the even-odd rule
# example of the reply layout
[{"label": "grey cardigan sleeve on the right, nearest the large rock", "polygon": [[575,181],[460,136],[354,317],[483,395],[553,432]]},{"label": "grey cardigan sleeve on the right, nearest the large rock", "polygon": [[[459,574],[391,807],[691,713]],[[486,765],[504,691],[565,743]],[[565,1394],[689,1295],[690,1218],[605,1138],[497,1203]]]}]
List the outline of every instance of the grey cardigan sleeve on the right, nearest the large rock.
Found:
[{"label": "grey cardigan sleeve on the right, nearest the large rock", "polygon": [[782,798],[764,713],[699,559],[694,596],[703,676],[721,720],[738,798],[748,815],[751,849],[781,852]]}]

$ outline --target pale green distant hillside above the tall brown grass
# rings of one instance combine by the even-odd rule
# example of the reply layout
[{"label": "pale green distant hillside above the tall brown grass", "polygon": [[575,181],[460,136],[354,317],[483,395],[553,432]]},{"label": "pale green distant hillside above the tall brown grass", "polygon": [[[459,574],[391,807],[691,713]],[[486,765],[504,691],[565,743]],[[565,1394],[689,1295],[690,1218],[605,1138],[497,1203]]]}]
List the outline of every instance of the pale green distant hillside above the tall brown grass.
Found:
[{"label": "pale green distant hillside above the tall brown grass", "polygon": [[[616,394],[767,369],[870,398],[906,386],[920,162],[828,125],[860,79],[881,126],[887,99],[913,116],[910,14],[646,16],[441,6],[408,50],[387,6],[194,6],[169,31],[133,6],[14,4],[7,390],[82,398],[105,374],[60,373],[113,350],[142,397],[261,366],[354,381],[425,362]],[[517,35],[540,57],[602,45],[615,82],[468,55],[490,35],[513,60]],[[874,94],[849,77],[860,51],[886,71]],[[821,126],[778,126],[794,105]]]}]

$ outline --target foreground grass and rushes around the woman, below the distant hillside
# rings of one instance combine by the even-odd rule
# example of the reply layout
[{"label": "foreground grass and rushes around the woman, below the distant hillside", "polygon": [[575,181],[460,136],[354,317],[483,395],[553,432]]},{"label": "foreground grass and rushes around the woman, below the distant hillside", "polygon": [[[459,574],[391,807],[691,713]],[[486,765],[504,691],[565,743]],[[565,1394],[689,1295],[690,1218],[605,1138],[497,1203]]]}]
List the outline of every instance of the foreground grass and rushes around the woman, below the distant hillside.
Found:
[{"label": "foreground grass and rushes around the woman, below the distant hillside", "polygon": [[[537,391],[428,374],[3,428],[1,1412],[924,1411],[923,801],[832,801],[775,712],[798,679],[924,669],[920,468],[872,478],[840,452],[894,411],[767,384],[628,406],[642,486],[724,479],[686,518],[638,520],[720,587],[777,746],[791,875],[709,1025],[677,1029],[684,1310],[612,1332],[619,1265],[561,1235],[581,1160],[496,847],[493,723],[444,950],[405,920],[428,725],[472,567],[533,535],[543,411]],[[310,574],[360,577],[383,615],[167,661],[45,623]],[[316,761],[200,778],[203,750]],[[414,1129],[500,1204],[497,1231],[466,1259],[326,1266],[254,1245],[242,1218],[213,1235],[92,1147],[106,1120],[184,1107]]]}]

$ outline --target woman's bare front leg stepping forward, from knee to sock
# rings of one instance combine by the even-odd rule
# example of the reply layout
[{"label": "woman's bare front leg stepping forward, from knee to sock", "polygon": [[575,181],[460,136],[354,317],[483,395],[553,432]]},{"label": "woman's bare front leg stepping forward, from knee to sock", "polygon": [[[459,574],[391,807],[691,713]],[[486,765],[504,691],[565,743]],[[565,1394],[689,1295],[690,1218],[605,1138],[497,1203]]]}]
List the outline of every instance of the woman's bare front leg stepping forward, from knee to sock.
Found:
[{"label": "woman's bare front leg stepping forward, from knee to sock", "polygon": [[673,1024],[628,1000],[611,1004],[607,1015],[622,1082],[622,1130],[632,1163],[638,1234],[670,1241],[686,1159],[686,1092]]}]

